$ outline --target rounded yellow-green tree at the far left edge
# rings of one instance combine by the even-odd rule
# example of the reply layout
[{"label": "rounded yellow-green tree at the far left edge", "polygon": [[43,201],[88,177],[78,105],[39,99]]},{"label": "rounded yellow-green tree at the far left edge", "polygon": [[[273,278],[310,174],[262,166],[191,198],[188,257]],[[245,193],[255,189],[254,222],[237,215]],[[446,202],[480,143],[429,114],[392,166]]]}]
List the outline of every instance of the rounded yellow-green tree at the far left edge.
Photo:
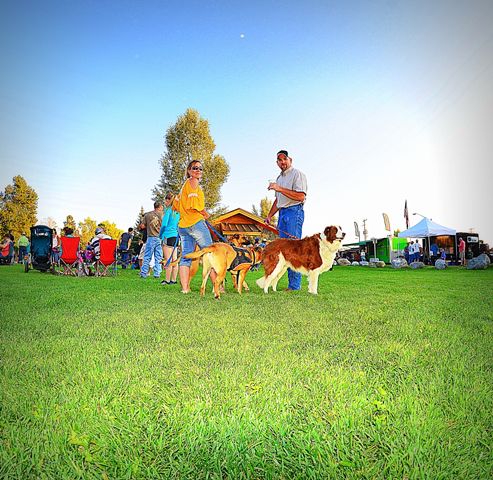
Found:
[{"label": "rounded yellow-green tree at the far left edge", "polygon": [[22,232],[29,234],[36,223],[38,194],[20,175],[12,180],[13,184],[0,192],[0,230],[2,235],[11,231],[18,238]]}]

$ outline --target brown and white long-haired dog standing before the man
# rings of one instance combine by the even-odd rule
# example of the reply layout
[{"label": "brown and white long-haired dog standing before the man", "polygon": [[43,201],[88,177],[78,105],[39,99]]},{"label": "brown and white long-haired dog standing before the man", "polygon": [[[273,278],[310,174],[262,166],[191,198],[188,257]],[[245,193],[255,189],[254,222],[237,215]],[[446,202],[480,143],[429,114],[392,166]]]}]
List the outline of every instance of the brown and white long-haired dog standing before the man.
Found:
[{"label": "brown and white long-haired dog standing before the man", "polygon": [[275,292],[277,282],[288,268],[308,276],[308,292],[317,294],[318,276],[329,270],[334,263],[341,241],[346,236],[341,227],[326,227],[324,233],[318,233],[301,240],[278,238],[269,243],[262,255],[264,276],[257,285]]}]

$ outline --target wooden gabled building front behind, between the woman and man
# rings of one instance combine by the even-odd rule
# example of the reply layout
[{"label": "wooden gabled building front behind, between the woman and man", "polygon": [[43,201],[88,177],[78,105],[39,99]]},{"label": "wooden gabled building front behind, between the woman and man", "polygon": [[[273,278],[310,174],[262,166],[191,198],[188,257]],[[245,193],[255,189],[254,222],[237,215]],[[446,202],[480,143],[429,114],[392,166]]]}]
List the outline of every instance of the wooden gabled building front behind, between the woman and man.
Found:
[{"label": "wooden gabled building front behind, between the woman and man", "polygon": [[278,233],[277,229],[267,225],[263,218],[242,208],[236,208],[215,218],[211,224],[228,240],[238,235],[239,238],[243,238],[245,241],[250,240],[253,243],[255,237],[263,238]]}]

